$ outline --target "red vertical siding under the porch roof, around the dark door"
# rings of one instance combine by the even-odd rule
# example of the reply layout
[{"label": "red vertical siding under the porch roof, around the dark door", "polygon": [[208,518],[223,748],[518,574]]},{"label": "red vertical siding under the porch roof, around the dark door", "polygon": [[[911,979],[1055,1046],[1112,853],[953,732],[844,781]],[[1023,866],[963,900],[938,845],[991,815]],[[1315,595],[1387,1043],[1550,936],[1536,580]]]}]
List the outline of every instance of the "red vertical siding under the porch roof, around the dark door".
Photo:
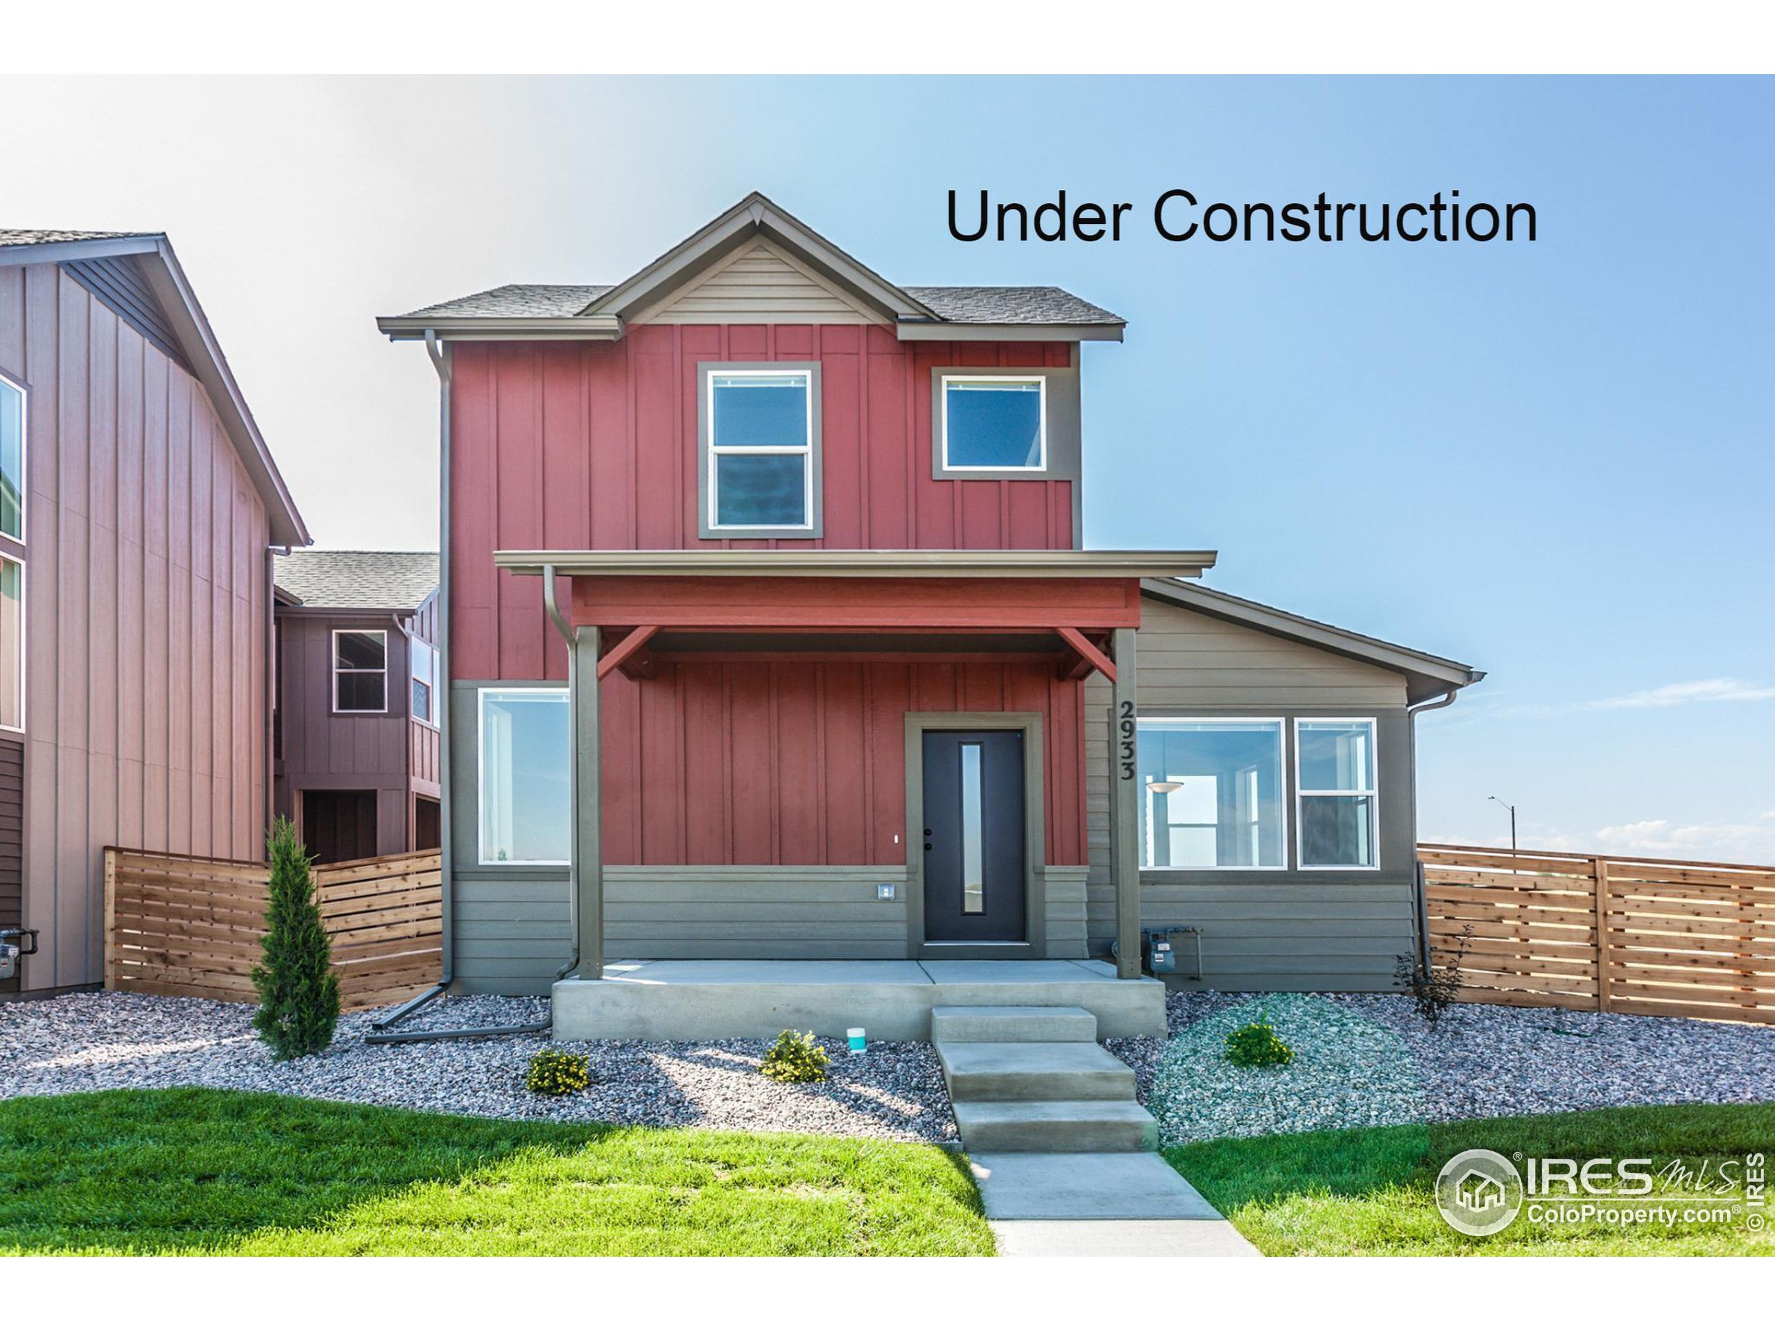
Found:
[{"label": "red vertical siding under the porch roof, around the dark door", "polygon": [[602,703],[607,864],[903,864],[907,712],[1040,713],[1045,859],[1085,862],[1083,690],[1053,662],[678,662]]}]

